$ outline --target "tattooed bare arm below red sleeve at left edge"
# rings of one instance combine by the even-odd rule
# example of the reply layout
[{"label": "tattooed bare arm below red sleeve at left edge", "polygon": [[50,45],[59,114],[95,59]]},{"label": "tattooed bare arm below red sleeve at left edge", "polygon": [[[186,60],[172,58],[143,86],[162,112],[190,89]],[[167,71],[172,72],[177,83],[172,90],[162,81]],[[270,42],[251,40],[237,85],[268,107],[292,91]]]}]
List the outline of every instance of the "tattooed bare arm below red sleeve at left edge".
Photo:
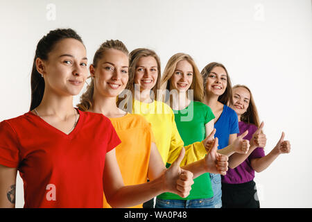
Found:
[{"label": "tattooed bare arm below red sleeve at left edge", "polygon": [[15,208],[17,169],[0,165],[0,208]]}]

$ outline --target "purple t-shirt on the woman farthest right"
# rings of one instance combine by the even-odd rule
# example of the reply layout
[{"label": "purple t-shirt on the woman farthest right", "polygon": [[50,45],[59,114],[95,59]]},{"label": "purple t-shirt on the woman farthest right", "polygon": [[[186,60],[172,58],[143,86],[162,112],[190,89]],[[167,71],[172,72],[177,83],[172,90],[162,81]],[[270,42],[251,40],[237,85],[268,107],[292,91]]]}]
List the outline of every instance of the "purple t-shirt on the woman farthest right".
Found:
[{"label": "purple t-shirt on the woman farthest right", "polygon": [[[253,124],[244,123],[242,121],[239,122],[239,135],[245,132],[245,130],[248,130],[248,135],[246,135],[243,139],[250,139],[252,138],[252,135],[257,130],[257,126],[254,126]],[[227,174],[225,176],[222,176],[222,182],[229,183],[229,184],[239,184],[244,182],[249,182],[254,179],[254,169],[252,169],[250,165],[250,160],[254,158],[264,157],[264,151],[263,148],[257,147],[250,153],[248,158],[242,162],[239,166],[237,166],[234,169],[229,169],[227,171]]]}]

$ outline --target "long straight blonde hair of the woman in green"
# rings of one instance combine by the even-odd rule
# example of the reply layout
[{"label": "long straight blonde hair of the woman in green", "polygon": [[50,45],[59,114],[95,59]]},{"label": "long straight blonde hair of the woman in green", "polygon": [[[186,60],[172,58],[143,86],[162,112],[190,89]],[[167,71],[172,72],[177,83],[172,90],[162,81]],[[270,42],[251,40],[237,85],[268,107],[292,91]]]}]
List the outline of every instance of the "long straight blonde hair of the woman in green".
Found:
[{"label": "long straight blonde hair of the woman in green", "polygon": [[[198,70],[198,67],[196,66],[193,58],[185,53],[176,53],[175,55],[171,56],[171,58],[168,60],[167,65],[164,69],[164,74],[162,76],[162,85],[161,89],[170,90],[170,78],[173,76],[175,72],[175,68],[177,67],[177,62],[180,62],[182,60],[187,60],[193,67],[193,81],[191,83],[191,86],[189,89],[193,89],[193,100],[194,101],[200,101],[202,102],[204,99],[204,89],[203,89],[203,83],[202,83],[202,76],[200,75],[200,71]],[[189,90],[188,89],[188,90]],[[164,99],[163,95],[163,98]],[[164,99],[165,100],[165,99]]]}]

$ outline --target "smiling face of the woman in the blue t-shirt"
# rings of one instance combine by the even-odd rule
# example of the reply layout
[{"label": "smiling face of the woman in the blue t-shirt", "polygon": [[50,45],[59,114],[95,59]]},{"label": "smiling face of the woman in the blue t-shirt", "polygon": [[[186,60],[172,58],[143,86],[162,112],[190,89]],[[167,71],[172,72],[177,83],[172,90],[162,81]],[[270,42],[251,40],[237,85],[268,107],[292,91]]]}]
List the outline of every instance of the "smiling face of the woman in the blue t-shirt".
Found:
[{"label": "smiling face of the woman in the blue t-shirt", "polygon": [[222,67],[214,67],[207,77],[206,92],[221,96],[227,88],[227,73]]}]

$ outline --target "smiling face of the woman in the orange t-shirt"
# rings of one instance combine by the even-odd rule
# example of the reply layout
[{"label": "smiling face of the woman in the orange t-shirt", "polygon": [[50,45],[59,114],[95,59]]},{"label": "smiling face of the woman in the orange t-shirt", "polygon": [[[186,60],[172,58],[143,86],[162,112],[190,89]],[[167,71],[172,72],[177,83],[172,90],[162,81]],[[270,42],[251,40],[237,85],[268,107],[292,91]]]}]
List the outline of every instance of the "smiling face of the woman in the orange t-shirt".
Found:
[{"label": "smiling face of the woman in the orange t-shirt", "polygon": [[94,77],[94,94],[118,96],[128,83],[128,65],[128,56],[122,51],[116,49],[104,51],[96,67],[90,66],[90,73]]}]

